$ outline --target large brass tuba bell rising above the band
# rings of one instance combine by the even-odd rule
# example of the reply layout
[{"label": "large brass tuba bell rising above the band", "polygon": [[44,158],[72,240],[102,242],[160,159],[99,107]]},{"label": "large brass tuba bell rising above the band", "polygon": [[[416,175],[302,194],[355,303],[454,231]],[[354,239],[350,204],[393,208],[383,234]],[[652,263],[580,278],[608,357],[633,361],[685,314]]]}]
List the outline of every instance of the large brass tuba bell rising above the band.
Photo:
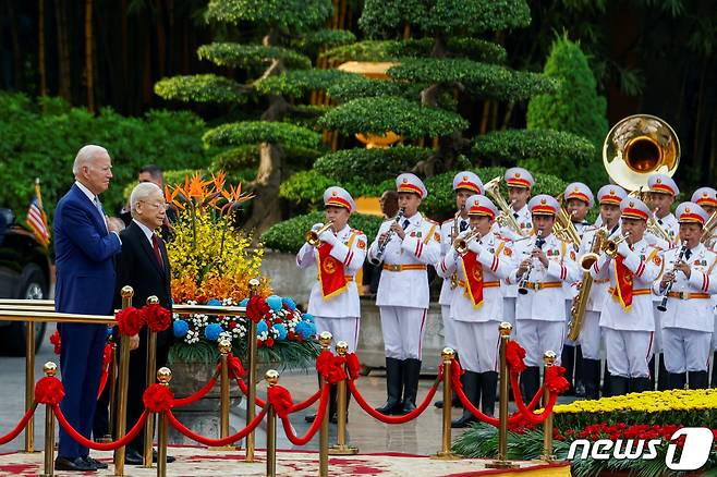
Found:
[{"label": "large brass tuba bell rising above the band", "polygon": [[603,163],[628,191],[647,186],[651,174],[672,176],[680,163],[680,139],[668,123],[649,114],[624,118],[603,144]]}]

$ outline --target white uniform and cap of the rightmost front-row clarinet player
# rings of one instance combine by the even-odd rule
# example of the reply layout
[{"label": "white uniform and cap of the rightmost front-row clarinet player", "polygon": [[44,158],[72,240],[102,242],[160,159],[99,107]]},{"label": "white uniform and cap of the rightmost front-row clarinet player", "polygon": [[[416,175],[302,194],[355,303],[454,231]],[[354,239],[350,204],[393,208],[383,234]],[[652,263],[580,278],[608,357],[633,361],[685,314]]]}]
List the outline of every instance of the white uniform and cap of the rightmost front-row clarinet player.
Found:
[{"label": "white uniform and cap of the rightmost front-row clarinet player", "polygon": [[[685,212],[680,217],[690,221],[700,209],[701,221],[707,216],[693,203],[684,203],[678,210]],[[680,247],[665,253],[665,270],[675,269]],[[667,310],[661,313],[663,352],[665,366],[669,372],[682,374],[706,371],[714,332],[714,314],[710,295],[717,293],[717,254],[703,244],[686,250],[683,260],[690,265],[688,279],[678,271],[667,298]],[[661,279],[653,284],[653,291],[664,296],[666,290],[660,288]],[[659,313],[659,311],[658,311]]]}]

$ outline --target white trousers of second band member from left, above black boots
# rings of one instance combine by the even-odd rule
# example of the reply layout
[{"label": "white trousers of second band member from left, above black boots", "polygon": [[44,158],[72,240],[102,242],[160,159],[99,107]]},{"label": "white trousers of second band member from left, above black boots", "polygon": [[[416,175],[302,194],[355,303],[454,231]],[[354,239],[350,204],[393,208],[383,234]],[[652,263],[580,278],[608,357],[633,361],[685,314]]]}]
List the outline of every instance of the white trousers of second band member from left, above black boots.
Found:
[{"label": "white trousers of second band member from left, above black boots", "polygon": [[426,309],[409,306],[379,306],[386,357],[421,359],[426,333]]}]

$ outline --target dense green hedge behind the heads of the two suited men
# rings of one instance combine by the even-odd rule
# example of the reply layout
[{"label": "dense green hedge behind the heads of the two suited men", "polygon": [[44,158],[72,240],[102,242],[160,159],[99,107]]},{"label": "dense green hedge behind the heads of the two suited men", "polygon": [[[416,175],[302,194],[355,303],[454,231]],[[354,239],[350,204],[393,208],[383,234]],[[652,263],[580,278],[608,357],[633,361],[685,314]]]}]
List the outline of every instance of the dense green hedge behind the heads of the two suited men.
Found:
[{"label": "dense green hedge behind the heads of the two suited men", "polygon": [[[47,111],[40,103],[48,106]],[[111,215],[123,204],[123,185],[136,178],[142,166],[156,163],[165,170],[207,166],[216,150],[204,148],[205,131],[204,121],[186,111],[124,118],[105,108],[93,115],[59,98],[35,102],[0,93],[0,178],[5,179],[0,204],[22,217],[39,178],[45,209],[51,212],[74,182],[77,150],[97,144],[112,158],[114,176],[102,194],[105,210]]]}]

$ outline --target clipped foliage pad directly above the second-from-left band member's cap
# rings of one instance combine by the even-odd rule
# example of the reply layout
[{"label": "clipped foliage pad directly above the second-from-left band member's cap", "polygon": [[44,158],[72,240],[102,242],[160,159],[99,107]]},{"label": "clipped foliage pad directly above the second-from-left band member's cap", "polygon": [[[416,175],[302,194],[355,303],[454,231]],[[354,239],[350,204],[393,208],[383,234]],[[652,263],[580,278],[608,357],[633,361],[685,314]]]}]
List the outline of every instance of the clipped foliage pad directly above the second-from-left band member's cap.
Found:
[{"label": "clipped foliage pad directly above the second-from-left band member's cap", "polygon": [[396,146],[388,149],[343,149],[323,156],[314,162],[314,170],[340,182],[356,178],[377,184],[386,178],[411,170],[420,160],[426,160],[432,149],[413,146]]}]

